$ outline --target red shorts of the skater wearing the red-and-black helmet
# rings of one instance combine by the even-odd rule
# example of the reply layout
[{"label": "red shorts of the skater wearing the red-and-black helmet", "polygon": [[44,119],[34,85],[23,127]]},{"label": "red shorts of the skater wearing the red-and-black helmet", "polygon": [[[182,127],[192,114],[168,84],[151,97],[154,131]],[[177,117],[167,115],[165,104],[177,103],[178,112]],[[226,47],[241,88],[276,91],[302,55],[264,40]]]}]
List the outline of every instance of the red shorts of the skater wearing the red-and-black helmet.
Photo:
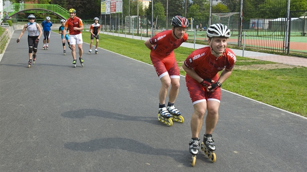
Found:
[{"label": "red shorts of the skater wearing the red-and-black helmet", "polygon": [[169,74],[171,78],[180,78],[179,68],[174,54],[166,56],[163,59],[154,57],[152,55],[150,58],[153,62],[153,67],[160,79],[167,74]]}]

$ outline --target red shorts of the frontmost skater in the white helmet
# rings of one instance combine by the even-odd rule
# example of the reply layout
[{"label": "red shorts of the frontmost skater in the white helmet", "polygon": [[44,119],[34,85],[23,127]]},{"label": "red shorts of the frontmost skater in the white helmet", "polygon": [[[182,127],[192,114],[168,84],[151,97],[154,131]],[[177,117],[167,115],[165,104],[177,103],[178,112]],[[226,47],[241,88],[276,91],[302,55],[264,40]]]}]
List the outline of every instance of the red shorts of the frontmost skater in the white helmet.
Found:
[{"label": "red shorts of the frontmost skater in the white helmet", "polygon": [[[218,77],[212,78],[212,80],[214,81],[217,81],[217,79]],[[217,88],[213,92],[207,92],[204,86],[202,86],[199,82],[194,80],[189,75],[186,75],[186,85],[193,105],[199,102],[206,102],[207,100],[221,103],[221,88]],[[207,94],[207,100],[206,100],[206,94]]]}]

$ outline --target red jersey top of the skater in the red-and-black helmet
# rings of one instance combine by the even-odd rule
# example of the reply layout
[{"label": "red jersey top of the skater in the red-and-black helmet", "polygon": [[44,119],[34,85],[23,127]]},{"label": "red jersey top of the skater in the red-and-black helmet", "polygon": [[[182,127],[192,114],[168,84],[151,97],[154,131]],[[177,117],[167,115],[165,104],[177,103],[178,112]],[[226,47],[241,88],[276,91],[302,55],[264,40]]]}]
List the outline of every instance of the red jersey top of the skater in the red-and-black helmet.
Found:
[{"label": "red jersey top of the skater in the red-and-black helmet", "polygon": [[183,42],[187,41],[188,34],[185,33],[183,38],[175,39],[172,34],[173,30],[160,32],[150,38],[150,43],[153,44],[151,56],[163,59],[173,53],[173,50],[178,48]]}]

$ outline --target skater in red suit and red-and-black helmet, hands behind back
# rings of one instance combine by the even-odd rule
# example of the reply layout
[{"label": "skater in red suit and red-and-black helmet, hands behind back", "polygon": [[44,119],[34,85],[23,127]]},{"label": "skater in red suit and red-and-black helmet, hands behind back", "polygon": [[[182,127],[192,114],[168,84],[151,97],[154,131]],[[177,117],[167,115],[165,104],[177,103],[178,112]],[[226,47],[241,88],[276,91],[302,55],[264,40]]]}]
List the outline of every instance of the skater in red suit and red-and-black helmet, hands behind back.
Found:
[{"label": "skater in red suit and red-and-black helmet, hands behind back", "polygon": [[[167,119],[169,123],[166,122],[166,124],[170,126],[173,124],[170,119],[181,115],[180,111],[174,107],[179,91],[180,75],[173,50],[188,39],[186,29],[189,26],[189,21],[185,17],[175,16],[172,19],[172,26],[172,30],[158,33],[145,41],[146,47],[151,50],[150,58],[161,81],[158,120],[164,122],[164,119]],[[166,107],[165,99],[170,87],[169,102]],[[182,117],[180,122],[183,122]]]}]

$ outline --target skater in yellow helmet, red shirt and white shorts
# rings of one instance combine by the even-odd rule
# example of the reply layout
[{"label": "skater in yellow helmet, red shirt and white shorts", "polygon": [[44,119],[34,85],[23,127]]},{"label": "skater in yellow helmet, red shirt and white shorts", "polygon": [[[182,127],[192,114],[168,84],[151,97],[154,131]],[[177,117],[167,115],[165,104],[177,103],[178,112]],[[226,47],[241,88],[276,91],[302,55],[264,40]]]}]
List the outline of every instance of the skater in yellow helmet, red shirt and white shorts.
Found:
[{"label": "skater in yellow helmet, red shirt and white shorts", "polygon": [[84,60],[82,59],[82,53],[83,53],[83,49],[82,49],[82,44],[83,44],[83,40],[82,40],[82,34],[81,31],[83,30],[83,23],[82,20],[76,16],[76,10],[74,8],[69,9],[69,18],[66,20],[65,25],[64,25],[64,30],[62,32],[63,38],[62,38],[62,42],[65,42],[65,34],[69,28],[69,41],[70,41],[70,45],[72,48],[72,55],[73,55],[73,64],[76,68],[76,44],[78,45],[78,49],[79,49],[79,61],[81,66],[83,67],[83,62]]}]

